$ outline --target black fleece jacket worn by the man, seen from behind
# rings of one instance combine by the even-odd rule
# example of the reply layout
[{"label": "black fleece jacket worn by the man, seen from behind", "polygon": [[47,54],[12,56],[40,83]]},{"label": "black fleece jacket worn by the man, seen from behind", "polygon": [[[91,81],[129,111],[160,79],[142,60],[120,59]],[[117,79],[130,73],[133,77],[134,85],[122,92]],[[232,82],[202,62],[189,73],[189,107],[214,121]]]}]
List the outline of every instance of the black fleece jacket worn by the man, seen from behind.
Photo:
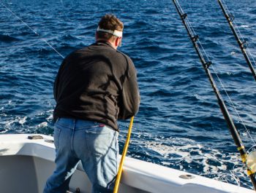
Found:
[{"label": "black fleece jacket worn by the man, seen from behind", "polygon": [[100,122],[118,130],[117,119],[138,112],[140,95],[132,60],[107,42],[76,50],[61,63],[54,83],[59,117]]}]

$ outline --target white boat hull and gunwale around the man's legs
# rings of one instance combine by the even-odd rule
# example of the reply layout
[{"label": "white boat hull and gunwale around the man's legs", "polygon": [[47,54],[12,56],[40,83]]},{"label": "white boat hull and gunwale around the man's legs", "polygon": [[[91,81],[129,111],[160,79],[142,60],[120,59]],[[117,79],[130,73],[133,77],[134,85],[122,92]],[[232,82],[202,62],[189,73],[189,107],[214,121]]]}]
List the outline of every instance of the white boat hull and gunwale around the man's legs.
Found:
[{"label": "white boat hull and gunwale around the man's legs", "polygon": [[[55,168],[53,138],[30,140],[27,134],[0,135],[0,192],[39,193]],[[81,165],[72,176],[70,190],[91,192]],[[197,176],[150,162],[126,157],[121,193],[252,193],[251,189]]]}]

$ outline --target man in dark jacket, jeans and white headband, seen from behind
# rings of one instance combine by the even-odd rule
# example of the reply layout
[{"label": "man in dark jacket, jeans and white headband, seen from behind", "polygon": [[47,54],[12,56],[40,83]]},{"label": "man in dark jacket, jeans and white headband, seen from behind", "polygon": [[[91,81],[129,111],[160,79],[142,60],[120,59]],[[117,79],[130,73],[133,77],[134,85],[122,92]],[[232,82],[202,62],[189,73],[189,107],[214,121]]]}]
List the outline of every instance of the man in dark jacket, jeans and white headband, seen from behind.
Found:
[{"label": "man in dark jacket, jeans and white headband, seen from behind", "polygon": [[96,43],[72,52],[54,84],[56,170],[44,193],[65,193],[83,164],[92,192],[113,192],[118,172],[117,119],[138,112],[140,96],[132,60],[117,51],[124,25],[114,15],[99,21]]}]

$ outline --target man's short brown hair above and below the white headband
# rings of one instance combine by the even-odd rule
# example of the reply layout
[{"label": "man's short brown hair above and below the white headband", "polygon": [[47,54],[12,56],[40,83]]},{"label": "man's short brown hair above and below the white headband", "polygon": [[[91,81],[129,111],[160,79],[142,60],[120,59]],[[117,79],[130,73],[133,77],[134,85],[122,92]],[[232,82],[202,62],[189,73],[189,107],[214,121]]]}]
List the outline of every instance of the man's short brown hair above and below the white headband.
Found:
[{"label": "man's short brown hair above and below the white headband", "polygon": [[[101,20],[99,20],[98,26],[99,28],[111,31],[123,31],[124,29],[124,24],[121,22],[121,20],[118,20],[115,15],[111,14],[104,15]],[[106,32],[97,31],[97,36],[99,39],[110,39],[113,35]]]}]

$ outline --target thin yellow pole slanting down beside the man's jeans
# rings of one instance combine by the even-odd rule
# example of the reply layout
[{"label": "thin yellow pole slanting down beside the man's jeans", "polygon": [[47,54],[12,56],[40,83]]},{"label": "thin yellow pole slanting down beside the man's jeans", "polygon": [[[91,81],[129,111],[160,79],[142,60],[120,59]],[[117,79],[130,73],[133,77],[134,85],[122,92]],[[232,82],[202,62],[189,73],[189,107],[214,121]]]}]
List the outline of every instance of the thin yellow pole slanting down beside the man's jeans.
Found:
[{"label": "thin yellow pole slanting down beside the man's jeans", "polygon": [[118,173],[117,173],[117,176],[116,176],[116,184],[115,184],[113,193],[118,192],[118,188],[119,188],[119,184],[120,184],[120,180],[121,180],[121,174],[122,174],[123,165],[124,165],[124,158],[127,155],[127,150],[128,150],[128,146],[129,146],[129,138],[131,138],[133,119],[134,119],[134,117],[132,117],[130,122],[129,122],[129,129],[128,129],[128,133],[127,133],[127,141],[124,144],[123,154],[121,155],[121,161],[120,161],[120,164],[119,164]]}]

